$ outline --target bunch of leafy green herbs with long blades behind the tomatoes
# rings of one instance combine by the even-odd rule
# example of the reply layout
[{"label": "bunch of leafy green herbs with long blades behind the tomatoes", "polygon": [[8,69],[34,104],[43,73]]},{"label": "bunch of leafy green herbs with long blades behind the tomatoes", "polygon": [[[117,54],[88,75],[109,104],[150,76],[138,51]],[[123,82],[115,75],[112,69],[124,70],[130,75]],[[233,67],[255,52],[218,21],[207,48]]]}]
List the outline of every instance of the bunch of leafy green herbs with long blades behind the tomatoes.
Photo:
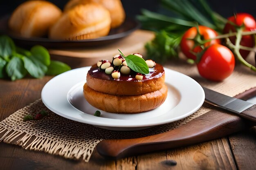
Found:
[{"label": "bunch of leafy green herbs with long blades behind the tomatoes", "polygon": [[137,19],[142,28],[155,31],[155,39],[146,44],[147,57],[159,63],[177,57],[180,40],[192,26],[208,26],[222,32],[227,19],[214,12],[206,0],[161,0],[168,14],[141,10]]}]

